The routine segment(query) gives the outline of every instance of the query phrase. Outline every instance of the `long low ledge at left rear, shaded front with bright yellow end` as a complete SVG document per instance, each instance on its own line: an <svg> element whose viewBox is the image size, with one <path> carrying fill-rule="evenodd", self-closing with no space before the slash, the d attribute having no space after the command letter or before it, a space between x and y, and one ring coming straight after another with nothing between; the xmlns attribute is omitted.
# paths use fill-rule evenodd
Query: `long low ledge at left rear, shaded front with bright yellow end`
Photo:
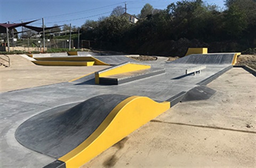
<svg viewBox="0 0 256 168"><path fill-rule="evenodd" d="M32 61L37 65L46 66L92 66L94 61Z"/></svg>

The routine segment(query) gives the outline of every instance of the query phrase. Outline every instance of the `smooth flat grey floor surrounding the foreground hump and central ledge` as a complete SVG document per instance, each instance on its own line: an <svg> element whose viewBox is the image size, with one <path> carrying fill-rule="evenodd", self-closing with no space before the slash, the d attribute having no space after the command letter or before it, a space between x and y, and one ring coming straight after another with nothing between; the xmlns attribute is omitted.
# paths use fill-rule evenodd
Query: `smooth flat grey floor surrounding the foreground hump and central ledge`
<svg viewBox="0 0 256 168"><path fill-rule="evenodd" d="M215 60L213 63L220 62ZM181 91L194 88L196 83L218 73L229 65L230 63L208 64L200 75L188 75L177 79L185 74L186 69L194 68L198 64L152 62L152 68L165 69L166 73L119 86L97 86L92 82L93 79L89 79L82 82L64 82L2 93L1 166L45 166L54 161L54 158L32 152L15 140L15 130L31 116L61 105L82 102L101 94L147 96L157 102L162 102ZM26 163L23 162L24 158L27 160Z"/></svg>

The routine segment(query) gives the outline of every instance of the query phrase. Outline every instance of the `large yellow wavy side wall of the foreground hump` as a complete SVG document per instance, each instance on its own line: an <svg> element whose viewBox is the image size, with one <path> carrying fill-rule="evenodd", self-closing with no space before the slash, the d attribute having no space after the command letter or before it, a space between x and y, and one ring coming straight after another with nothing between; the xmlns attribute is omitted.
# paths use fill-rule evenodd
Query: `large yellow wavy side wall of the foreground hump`
<svg viewBox="0 0 256 168"><path fill-rule="evenodd" d="M119 103L82 144L58 160L65 162L67 168L82 166L169 108L170 102L157 103L148 97L129 97Z"/></svg>

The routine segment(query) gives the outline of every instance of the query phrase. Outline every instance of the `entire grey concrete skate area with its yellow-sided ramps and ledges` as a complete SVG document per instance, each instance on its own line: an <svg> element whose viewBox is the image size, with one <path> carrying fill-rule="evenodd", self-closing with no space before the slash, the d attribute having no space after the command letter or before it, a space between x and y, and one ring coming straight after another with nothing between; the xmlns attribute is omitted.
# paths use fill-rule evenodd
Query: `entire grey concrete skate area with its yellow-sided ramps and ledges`
<svg viewBox="0 0 256 168"><path fill-rule="evenodd" d="M142 125L160 123L155 117L167 115L164 112L169 108L183 102L207 101L218 95L218 89L208 84L222 75L231 75L230 71L242 71L255 81L252 69L233 67L239 53L194 51L173 62L138 62L124 55L75 54L23 56L35 64L46 60L59 65L65 62L63 57L74 62L93 62L93 58L96 61L82 65L101 64L104 68L66 82L1 93L2 166L82 166L106 149L111 150L109 147L124 141ZM62 66L65 65L68 64ZM169 122L168 117L165 120ZM221 130L255 137L255 128Z"/></svg>

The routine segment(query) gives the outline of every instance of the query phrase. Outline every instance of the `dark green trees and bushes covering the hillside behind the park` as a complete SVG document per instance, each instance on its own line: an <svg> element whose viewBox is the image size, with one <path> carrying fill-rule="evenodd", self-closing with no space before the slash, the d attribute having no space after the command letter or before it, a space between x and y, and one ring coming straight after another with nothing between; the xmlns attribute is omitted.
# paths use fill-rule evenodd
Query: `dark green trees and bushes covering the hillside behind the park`
<svg viewBox="0 0 256 168"><path fill-rule="evenodd" d="M188 47L242 52L256 46L255 13L255 0L227 0L225 10L202 0L171 3L165 10L146 4L136 24L115 14L86 21L81 39L93 40L93 48L131 54L183 56Z"/></svg>

